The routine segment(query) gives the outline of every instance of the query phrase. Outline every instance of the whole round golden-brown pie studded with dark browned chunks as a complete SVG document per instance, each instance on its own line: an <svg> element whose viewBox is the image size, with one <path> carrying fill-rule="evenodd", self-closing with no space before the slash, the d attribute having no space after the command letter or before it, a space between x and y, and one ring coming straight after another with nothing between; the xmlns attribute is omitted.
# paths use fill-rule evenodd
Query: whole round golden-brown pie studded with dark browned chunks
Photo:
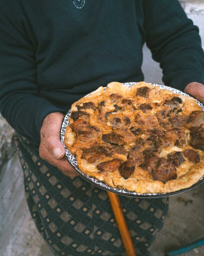
<svg viewBox="0 0 204 256"><path fill-rule="evenodd" d="M81 171L110 186L171 192L204 175L204 112L190 96L113 82L71 111L66 146Z"/></svg>

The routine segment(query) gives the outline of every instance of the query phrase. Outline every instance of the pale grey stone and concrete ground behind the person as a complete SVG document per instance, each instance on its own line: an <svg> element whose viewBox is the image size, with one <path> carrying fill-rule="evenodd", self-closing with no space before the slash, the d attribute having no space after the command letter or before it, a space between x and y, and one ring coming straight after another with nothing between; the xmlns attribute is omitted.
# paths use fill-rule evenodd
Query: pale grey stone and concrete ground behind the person
<svg viewBox="0 0 204 256"><path fill-rule="evenodd" d="M188 0L187 15L199 27L204 46L204 0ZM146 82L162 83L159 64L144 46L142 70ZM12 129L0 117L0 255L53 256L32 221L23 190L17 154L12 152ZM13 156L12 156L13 155ZM185 193L170 197L170 209L162 231L156 237L151 256L165 256L168 250L204 237L204 183ZM203 256L204 246L181 256Z"/></svg>

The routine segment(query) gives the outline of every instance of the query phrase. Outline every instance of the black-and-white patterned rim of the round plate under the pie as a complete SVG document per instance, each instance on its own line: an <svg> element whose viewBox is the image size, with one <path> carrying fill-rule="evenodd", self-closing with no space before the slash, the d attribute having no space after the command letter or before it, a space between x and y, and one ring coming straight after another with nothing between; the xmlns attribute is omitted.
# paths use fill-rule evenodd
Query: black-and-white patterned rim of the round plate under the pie
<svg viewBox="0 0 204 256"><path fill-rule="evenodd" d="M128 86L128 87L132 86L133 84L137 84L137 83L134 83L134 82L132 82L132 83L123 83L123 85ZM178 89L175 89L175 88L172 88L172 87L169 87L169 86L165 86L165 85L161 85L161 84L154 84L154 83L151 83L151 85L159 86L160 89L167 89L167 90L173 91L174 93L184 94L184 95L190 96L187 93L184 93L184 92L182 92ZM104 90L105 90L105 88L106 87L104 87ZM89 94L91 94L91 93L89 93ZM87 95L89 95L89 94L87 94ZM197 101L198 105L202 108L202 110L204 111L204 105L200 101L198 101L198 100L196 100L196 101ZM95 177L89 176L89 175L83 173L82 171L80 171L80 169L78 168L78 165L77 165L76 157L74 155L72 155L72 153L65 146L65 144L64 144L65 136L64 135L65 135L66 127L69 125L70 114L71 114L71 109L67 112L67 114L66 114L66 116L65 116L65 118L62 122L61 131L60 131L60 139L61 139L61 141L62 141L62 143L65 147L65 158L68 161L68 163L73 167L73 169L80 176L82 176L84 179L91 182L95 186L100 187L102 189L105 189L107 191L114 192L114 193L119 194L119 195L123 195L123 196L138 197L138 198L159 198L159 197L167 197L167 196L172 196L172 195L182 193L182 192L187 191L187 190L189 190L193 187L196 187L197 185L201 184L204 181L204 176L203 176L194 185L192 185L188 188L185 188L185 189L181 189L181 190L172 192L172 193L143 193L143 194L139 194L139 193L136 193L136 192L128 191L126 189L119 189L119 188L110 187L105 182L99 181Z"/></svg>

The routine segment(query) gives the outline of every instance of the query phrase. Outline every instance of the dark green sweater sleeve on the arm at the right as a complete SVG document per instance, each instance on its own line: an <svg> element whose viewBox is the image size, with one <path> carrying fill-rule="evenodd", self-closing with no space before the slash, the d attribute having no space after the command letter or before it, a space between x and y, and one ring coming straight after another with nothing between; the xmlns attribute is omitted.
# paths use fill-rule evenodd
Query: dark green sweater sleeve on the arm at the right
<svg viewBox="0 0 204 256"><path fill-rule="evenodd" d="M160 62L165 85L183 90L191 82L204 84L204 52L198 27L178 0L144 0L144 30L152 58Z"/></svg>

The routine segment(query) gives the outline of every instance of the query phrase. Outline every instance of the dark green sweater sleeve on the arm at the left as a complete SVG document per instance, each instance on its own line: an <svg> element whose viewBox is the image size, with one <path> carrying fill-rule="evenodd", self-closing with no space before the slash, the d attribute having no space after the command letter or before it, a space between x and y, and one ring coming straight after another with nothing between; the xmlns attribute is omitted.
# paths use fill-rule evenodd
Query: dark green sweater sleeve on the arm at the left
<svg viewBox="0 0 204 256"><path fill-rule="evenodd" d="M3 10L0 17L1 114L17 132L39 145L44 117L62 110L39 95L32 43Z"/></svg>

